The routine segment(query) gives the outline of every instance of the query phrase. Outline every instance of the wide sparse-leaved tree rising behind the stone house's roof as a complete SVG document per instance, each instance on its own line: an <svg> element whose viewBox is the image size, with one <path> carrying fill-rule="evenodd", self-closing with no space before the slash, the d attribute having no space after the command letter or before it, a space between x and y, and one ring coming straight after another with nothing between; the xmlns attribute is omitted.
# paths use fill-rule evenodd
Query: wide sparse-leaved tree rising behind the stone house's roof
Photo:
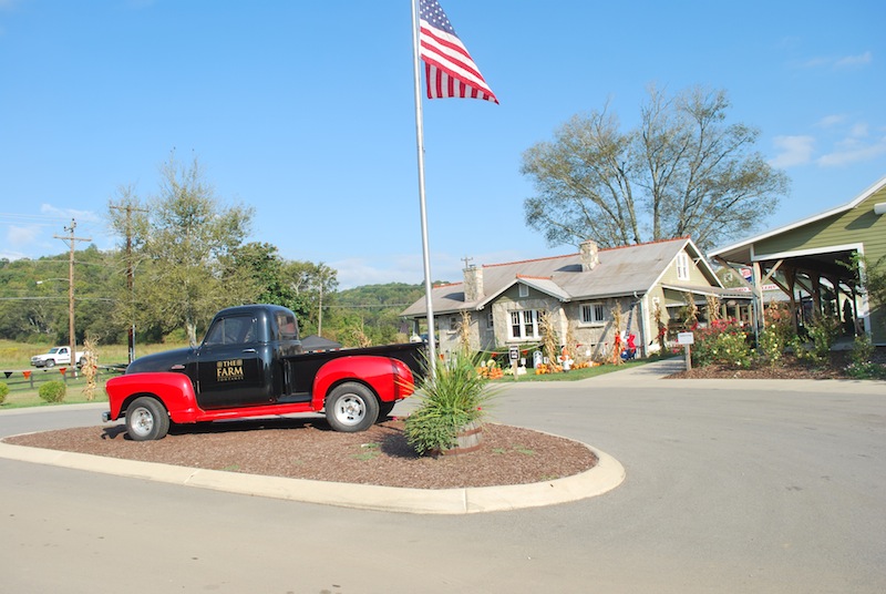
<svg viewBox="0 0 886 594"><path fill-rule="evenodd" d="M746 234L789 182L753 151L758 130L727 123L729 107L724 91L668 98L652 86L637 129L622 132L607 109L573 116L523 155L536 192L527 225L550 246L691 236L709 247Z"/></svg>

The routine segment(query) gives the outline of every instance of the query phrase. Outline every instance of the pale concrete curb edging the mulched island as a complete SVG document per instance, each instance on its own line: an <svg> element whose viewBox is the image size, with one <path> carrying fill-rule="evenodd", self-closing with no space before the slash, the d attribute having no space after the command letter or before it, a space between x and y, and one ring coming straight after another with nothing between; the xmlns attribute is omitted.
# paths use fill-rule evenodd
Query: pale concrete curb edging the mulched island
<svg viewBox="0 0 886 594"><path fill-rule="evenodd" d="M604 494L621 484L626 475L621 463L605 452L588 449L597 455L597 465L574 477L532 484L465 489L400 489L240 474L11 443L0 443L0 458L303 503L385 512L466 514L567 503Z"/></svg>

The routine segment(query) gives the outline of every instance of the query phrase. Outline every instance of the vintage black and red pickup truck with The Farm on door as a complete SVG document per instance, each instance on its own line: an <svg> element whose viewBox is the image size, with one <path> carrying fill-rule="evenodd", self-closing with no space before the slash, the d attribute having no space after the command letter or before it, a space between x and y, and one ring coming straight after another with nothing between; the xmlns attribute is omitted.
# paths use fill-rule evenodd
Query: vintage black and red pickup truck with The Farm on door
<svg viewBox="0 0 886 594"><path fill-rule="evenodd" d="M422 344L305 352L296 315L248 305L216 314L197 348L148 355L107 381L105 421L133 440L169 423L324 411L337 431L364 431L414 391Z"/></svg>

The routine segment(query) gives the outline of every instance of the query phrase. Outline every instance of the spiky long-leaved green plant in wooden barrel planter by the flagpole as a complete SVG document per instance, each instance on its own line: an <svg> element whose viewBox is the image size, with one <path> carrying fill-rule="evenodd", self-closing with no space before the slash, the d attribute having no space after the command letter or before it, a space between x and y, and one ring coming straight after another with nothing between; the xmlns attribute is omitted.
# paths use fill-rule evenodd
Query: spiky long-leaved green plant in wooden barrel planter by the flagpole
<svg viewBox="0 0 886 594"><path fill-rule="evenodd" d="M483 419L483 407L494 396L467 355L437 365L436 378L425 373L420 390L419 408L404 427L406 441L420 455L452 448L459 431Z"/></svg>

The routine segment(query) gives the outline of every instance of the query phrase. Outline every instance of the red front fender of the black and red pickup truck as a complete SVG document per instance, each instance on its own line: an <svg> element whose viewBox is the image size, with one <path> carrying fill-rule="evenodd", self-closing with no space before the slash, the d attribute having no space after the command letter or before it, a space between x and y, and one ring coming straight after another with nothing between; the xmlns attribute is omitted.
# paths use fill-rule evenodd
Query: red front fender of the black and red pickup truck
<svg viewBox="0 0 886 594"><path fill-rule="evenodd" d="M116 420L138 396L154 396L174 422L195 422L198 414L194 386L184 373L157 371L111 378L105 383L110 404L109 420Z"/></svg>

